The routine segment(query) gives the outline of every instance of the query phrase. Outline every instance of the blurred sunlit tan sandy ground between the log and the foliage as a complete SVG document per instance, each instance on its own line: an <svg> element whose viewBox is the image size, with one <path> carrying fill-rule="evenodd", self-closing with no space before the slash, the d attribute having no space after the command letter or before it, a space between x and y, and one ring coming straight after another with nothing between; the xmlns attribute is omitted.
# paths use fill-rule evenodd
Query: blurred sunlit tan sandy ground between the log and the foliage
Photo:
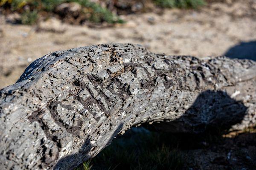
<svg viewBox="0 0 256 170"><path fill-rule="evenodd" d="M198 11L168 9L161 15L122 17L128 21L124 25L98 28L56 19L37 26L12 25L0 15L0 88L14 83L33 60L53 51L129 42L155 53L207 57L223 55L241 42L254 45L256 40L255 0L212 3Z"/></svg>

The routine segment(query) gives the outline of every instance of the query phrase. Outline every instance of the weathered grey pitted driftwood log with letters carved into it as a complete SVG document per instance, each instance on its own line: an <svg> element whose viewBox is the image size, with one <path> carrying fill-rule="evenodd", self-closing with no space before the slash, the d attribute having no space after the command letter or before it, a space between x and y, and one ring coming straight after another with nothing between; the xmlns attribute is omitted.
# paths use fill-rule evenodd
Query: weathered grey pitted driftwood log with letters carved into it
<svg viewBox="0 0 256 170"><path fill-rule="evenodd" d="M73 169L149 122L199 133L256 124L256 62L104 44L35 60L0 91L0 169Z"/></svg>

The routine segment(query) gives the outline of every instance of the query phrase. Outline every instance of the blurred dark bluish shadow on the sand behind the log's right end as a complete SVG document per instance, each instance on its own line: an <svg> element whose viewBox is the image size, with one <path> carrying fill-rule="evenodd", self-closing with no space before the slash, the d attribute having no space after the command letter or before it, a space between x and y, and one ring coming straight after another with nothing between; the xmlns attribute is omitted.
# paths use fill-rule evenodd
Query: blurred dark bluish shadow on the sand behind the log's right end
<svg viewBox="0 0 256 170"><path fill-rule="evenodd" d="M224 56L238 59L252 59L256 61L256 41L241 42L228 49Z"/></svg>

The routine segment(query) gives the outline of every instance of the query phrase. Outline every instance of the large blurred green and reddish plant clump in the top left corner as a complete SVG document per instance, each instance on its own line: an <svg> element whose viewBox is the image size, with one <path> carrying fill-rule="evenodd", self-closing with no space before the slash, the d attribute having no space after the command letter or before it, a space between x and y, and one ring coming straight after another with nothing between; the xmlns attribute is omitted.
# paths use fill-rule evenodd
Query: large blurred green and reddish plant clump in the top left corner
<svg viewBox="0 0 256 170"><path fill-rule="evenodd" d="M12 11L18 11L22 14L21 23L33 24L38 19L38 13L46 11L47 13L44 14L56 14L55 8L58 5L71 2L79 3L84 9L81 11L81 15L89 16L85 19L91 22L124 23L123 20L107 8L89 0L1 0L0 7L9 6ZM28 6L29 9L24 10L24 6Z"/></svg>

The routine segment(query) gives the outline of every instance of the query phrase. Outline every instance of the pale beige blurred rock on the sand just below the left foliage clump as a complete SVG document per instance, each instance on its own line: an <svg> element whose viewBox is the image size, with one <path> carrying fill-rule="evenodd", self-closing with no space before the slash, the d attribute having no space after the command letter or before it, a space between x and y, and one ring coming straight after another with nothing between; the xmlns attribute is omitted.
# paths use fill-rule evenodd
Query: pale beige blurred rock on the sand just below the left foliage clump
<svg viewBox="0 0 256 170"><path fill-rule="evenodd" d="M39 23L37 31L50 31L55 33L64 33L66 31L66 27L60 20L55 17L52 17L46 21L42 21Z"/></svg>

